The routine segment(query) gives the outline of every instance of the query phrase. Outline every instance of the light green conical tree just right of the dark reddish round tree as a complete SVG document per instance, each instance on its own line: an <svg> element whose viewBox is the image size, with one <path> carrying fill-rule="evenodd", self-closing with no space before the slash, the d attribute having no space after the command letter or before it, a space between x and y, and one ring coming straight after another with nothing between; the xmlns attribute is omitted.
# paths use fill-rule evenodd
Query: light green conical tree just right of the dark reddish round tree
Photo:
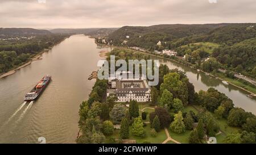
<svg viewBox="0 0 256 155"><path fill-rule="evenodd" d="M178 114L174 115L174 122L171 123L170 126L171 130L175 133L183 133L185 132L185 125L183 122L183 116L182 116L182 112L179 111Z"/></svg>

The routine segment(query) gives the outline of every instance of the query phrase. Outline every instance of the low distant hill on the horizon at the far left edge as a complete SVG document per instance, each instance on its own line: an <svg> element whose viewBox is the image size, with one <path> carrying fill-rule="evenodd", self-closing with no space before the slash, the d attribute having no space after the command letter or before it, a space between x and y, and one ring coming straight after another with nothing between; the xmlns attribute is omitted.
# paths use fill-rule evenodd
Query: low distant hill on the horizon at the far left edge
<svg viewBox="0 0 256 155"><path fill-rule="evenodd" d="M0 35L44 35L51 34L48 30L36 30L34 28L0 28Z"/></svg>

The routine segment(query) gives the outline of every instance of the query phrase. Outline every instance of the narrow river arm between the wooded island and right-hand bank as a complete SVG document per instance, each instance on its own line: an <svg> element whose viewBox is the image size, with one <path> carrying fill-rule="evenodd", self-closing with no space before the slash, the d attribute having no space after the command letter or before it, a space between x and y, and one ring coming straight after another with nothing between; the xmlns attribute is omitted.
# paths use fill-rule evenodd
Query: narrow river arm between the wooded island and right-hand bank
<svg viewBox="0 0 256 155"><path fill-rule="evenodd" d="M208 90L209 87L214 87L221 93L226 94L236 107L242 107L245 111L256 114L256 99L246 96L247 91L241 90L233 85L224 85L220 79L210 77L202 72L197 72L188 66L179 64L177 62L166 60L163 58L152 56L152 59L158 59L161 64L166 64L170 69L179 69L187 74L189 81L195 86L195 90Z"/></svg>

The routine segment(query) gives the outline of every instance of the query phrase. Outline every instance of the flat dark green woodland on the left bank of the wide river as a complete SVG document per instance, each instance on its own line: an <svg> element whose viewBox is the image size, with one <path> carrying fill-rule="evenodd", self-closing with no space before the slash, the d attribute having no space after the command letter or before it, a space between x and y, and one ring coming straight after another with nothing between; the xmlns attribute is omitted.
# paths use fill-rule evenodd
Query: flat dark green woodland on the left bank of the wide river
<svg viewBox="0 0 256 155"><path fill-rule="evenodd" d="M30 60L36 53L52 47L59 43L68 35L53 34L49 32L47 35L37 34L31 36L19 36L18 39L0 40L0 74ZM14 36L6 36L13 38ZM27 39L31 37L31 39Z"/></svg>

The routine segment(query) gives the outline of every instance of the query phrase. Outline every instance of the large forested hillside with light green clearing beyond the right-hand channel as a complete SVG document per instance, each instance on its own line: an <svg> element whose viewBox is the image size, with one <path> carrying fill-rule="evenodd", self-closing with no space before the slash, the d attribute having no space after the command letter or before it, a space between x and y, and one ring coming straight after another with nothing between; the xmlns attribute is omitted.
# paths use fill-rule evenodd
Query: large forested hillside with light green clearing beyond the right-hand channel
<svg viewBox="0 0 256 155"><path fill-rule="evenodd" d="M126 38L129 36L129 38ZM256 78L256 24L192 24L122 27L109 35L113 45L141 47L148 51L172 49L201 68L214 57L219 67ZM122 44L126 40L126 44ZM161 45L156 45L161 41ZM205 70L211 72L212 70Z"/></svg>

